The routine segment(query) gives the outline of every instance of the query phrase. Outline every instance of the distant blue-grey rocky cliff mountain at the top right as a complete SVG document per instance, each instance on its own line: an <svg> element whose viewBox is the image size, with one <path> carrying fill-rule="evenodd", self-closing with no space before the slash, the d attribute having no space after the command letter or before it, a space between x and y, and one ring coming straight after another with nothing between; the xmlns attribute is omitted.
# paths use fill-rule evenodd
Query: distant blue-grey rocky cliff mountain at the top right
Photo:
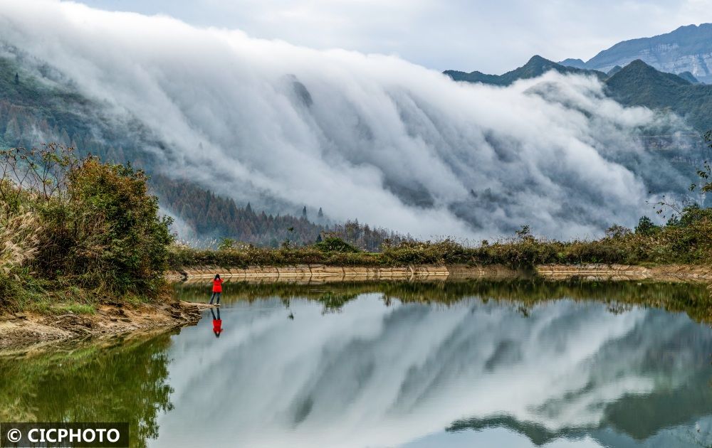
<svg viewBox="0 0 712 448"><path fill-rule="evenodd" d="M690 72L698 80L712 83L712 23L617 43L587 61L586 68L608 72L636 59L663 72Z"/></svg>

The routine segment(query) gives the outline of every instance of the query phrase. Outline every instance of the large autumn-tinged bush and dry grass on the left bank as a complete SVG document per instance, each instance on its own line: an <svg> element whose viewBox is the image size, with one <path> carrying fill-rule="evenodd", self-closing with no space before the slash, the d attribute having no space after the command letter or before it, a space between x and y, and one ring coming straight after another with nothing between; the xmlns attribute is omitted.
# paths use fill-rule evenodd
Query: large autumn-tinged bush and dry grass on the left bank
<svg viewBox="0 0 712 448"><path fill-rule="evenodd" d="M130 166L70 149L0 151L0 307L90 312L158 299L169 218Z"/></svg>

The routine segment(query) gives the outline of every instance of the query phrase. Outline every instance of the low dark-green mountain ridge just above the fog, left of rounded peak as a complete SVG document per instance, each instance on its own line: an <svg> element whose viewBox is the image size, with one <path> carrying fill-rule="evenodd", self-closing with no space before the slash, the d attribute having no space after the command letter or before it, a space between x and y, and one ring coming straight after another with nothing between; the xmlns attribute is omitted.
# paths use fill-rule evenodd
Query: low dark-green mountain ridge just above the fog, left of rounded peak
<svg viewBox="0 0 712 448"><path fill-rule="evenodd" d="M606 78L605 73L597 72L595 70L582 70L580 68L567 67L566 65L557 64L551 60L542 58L540 55L533 56L525 65L503 75L486 75L485 73L478 71L465 73L457 70L446 70L443 73L456 81L482 82L483 84L493 85L511 85L517 80L536 78L549 70L556 70L559 73L595 75L600 79Z"/></svg>

